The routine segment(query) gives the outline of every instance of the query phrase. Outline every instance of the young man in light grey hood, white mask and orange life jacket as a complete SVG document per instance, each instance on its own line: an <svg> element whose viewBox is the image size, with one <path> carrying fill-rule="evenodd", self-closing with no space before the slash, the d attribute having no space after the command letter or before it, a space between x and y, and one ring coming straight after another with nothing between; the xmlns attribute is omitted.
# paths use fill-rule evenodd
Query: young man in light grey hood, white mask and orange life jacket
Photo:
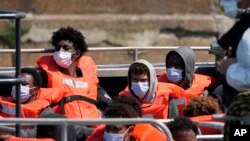
<svg viewBox="0 0 250 141"><path fill-rule="evenodd" d="M168 118L169 99L184 95L181 87L158 83L153 65L146 60L133 62L128 70L128 87L119 95L132 95L141 102L143 117Z"/></svg>

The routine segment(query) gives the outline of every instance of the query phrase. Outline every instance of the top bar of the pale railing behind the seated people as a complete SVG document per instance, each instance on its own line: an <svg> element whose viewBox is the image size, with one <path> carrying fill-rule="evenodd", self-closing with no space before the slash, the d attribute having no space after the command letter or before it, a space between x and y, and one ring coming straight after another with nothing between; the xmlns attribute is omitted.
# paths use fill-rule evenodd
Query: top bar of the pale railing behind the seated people
<svg viewBox="0 0 250 141"><path fill-rule="evenodd" d="M126 50L171 50L176 49L179 46L144 46L144 47L89 47L89 51L126 51ZM191 46L193 50L208 51L209 46ZM52 48L27 48L21 49L22 53L52 53ZM14 53L15 49L0 49L0 53Z"/></svg>

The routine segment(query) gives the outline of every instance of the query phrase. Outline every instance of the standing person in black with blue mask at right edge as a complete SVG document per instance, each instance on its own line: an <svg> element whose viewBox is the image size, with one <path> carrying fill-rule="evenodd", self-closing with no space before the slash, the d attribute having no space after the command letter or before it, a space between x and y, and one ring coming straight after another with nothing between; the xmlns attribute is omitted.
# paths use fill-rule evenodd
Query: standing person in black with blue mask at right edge
<svg viewBox="0 0 250 141"><path fill-rule="evenodd" d="M216 43L212 44L210 50L211 53L222 57L222 59L217 62L216 67L222 82L223 105L227 108L233 98L238 94L238 90L228 84L225 77L226 70L229 65L237 61L236 54L238 52L239 42L250 27L250 1L221 0L220 4L225 11L225 15L236 20L235 24L223 34Z"/></svg>

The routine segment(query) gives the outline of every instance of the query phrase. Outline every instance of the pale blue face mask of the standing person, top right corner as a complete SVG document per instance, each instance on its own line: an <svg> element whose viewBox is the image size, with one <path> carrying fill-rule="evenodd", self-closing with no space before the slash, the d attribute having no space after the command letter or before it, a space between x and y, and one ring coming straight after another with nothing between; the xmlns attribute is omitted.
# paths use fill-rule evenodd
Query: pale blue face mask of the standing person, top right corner
<svg viewBox="0 0 250 141"><path fill-rule="evenodd" d="M220 0L224 13L230 18L235 18L238 14L238 0Z"/></svg>

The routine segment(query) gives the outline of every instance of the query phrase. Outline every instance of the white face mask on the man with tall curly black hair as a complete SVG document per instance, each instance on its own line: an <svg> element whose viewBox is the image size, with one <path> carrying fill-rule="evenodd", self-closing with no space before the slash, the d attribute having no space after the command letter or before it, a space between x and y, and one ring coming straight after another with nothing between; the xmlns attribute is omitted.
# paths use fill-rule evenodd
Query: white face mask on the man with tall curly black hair
<svg viewBox="0 0 250 141"><path fill-rule="evenodd" d="M54 52L54 60L56 61L56 64L62 68L68 68L73 63L71 56L72 54L66 51Z"/></svg>

